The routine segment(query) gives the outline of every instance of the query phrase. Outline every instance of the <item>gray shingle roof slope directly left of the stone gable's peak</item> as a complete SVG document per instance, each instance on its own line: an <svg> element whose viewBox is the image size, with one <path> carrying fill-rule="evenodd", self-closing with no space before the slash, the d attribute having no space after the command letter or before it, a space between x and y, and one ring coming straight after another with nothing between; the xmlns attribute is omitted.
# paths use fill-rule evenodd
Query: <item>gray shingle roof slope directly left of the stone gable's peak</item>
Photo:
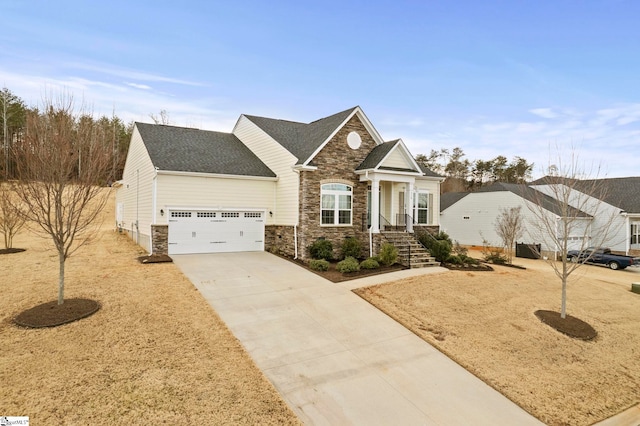
<svg viewBox="0 0 640 426"><path fill-rule="evenodd" d="M309 124L245 115L303 164L357 107Z"/></svg>

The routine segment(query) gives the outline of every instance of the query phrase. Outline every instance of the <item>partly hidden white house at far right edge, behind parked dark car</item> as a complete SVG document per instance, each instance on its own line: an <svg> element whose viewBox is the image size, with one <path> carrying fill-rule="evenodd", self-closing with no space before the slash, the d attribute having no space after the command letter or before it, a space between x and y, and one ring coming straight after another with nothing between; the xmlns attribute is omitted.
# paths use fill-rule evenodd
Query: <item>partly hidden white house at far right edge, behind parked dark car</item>
<svg viewBox="0 0 640 426"><path fill-rule="evenodd" d="M563 184L571 185L578 195L598 194L581 202L581 208L594 216L594 240L615 252L640 255L640 177L570 181L543 177L530 185L552 194L552 185ZM598 232L604 235L596 235Z"/></svg>

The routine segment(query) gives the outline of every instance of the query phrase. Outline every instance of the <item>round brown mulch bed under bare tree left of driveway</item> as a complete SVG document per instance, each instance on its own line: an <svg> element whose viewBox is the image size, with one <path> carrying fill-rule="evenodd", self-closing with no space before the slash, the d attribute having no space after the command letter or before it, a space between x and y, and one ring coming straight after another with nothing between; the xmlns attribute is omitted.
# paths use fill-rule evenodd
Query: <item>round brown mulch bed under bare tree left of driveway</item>
<svg viewBox="0 0 640 426"><path fill-rule="evenodd" d="M28 328L57 327L93 315L98 309L100 303L91 299L66 299L62 305L53 300L21 312L13 321Z"/></svg>

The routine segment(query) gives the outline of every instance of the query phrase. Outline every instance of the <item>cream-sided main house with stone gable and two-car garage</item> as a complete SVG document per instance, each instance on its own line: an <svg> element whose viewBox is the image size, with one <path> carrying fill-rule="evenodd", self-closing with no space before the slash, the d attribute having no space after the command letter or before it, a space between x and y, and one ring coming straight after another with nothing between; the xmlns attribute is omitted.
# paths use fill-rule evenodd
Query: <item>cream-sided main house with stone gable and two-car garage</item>
<svg viewBox="0 0 640 426"><path fill-rule="evenodd" d="M442 180L360 107L308 124L241 115L231 133L136 123L116 222L155 254L306 258L319 238L369 247L394 225L437 230Z"/></svg>

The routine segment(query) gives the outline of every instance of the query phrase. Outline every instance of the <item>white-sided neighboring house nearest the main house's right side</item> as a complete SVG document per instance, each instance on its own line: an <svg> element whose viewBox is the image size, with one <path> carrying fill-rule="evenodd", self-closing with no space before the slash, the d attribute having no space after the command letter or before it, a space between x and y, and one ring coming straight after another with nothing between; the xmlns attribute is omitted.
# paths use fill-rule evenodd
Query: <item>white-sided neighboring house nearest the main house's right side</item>
<svg viewBox="0 0 640 426"><path fill-rule="evenodd" d="M537 209L537 206L542 209ZM540 227L534 226L538 218L532 212L540 211L551 220L558 220L562 210L555 199L526 185L494 183L477 192L445 193L440 202L440 227L453 241L462 245L501 246L502 240L495 230L496 220L503 209L520 207L525 232L519 242L540 244L543 252L555 252L557 248L550 238L540 235ZM568 238L571 248L583 244L589 236L592 217L587 213L571 209L571 217L577 220ZM588 241L584 242L588 244Z"/></svg>

